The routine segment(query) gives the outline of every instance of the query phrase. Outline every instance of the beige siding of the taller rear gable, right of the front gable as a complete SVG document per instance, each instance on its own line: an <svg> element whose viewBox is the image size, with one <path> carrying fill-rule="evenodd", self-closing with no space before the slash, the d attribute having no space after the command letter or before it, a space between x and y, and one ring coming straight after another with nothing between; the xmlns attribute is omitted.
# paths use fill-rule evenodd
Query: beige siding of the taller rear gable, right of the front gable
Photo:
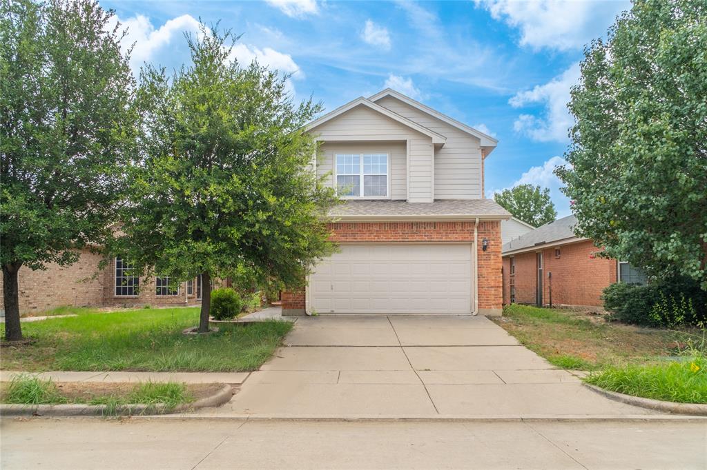
<svg viewBox="0 0 707 470"><path fill-rule="evenodd" d="M376 104L447 138L445 145L436 150L434 157L435 199L483 197L481 140L394 97L382 98Z"/></svg>

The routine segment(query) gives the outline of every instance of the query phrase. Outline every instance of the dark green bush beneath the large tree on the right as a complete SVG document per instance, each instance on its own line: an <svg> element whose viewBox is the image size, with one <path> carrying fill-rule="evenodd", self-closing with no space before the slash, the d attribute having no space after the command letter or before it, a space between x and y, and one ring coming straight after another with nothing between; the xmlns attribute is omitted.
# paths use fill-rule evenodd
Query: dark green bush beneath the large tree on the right
<svg viewBox="0 0 707 470"><path fill-rule="evenodd" d="M707 291L689 278L646 286L617 282L604 289L602 299L612 320L621 323L674 328L707 321Z"/></svg>

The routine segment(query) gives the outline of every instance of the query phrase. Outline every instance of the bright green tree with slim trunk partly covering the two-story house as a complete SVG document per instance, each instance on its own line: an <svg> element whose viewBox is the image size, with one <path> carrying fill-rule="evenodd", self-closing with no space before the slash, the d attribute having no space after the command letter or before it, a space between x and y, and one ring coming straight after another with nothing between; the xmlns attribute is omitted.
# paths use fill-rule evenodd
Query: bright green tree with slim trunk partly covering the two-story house
<svg viewBox="0 0 707 470"><path fill-rule="evenodd" d="M336 198L311 171L316 145L302 129L320 106L296 106L286 78L239 66L232 41L202 25L187 36L191 66L142 74L144 161L117 246L141 274L201 275L199 332L212 279L300 285L333 249L321 217Z"/></svg>

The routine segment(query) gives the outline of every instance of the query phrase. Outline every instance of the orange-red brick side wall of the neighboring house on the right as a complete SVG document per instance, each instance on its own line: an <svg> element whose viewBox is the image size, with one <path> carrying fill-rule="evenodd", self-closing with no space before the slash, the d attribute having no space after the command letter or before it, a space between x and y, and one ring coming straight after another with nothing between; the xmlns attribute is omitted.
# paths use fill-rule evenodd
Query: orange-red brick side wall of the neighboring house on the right
<svg viewBox="0 0 707 470"><path fill-rule="evenodd" d="M556 253L559 250L559 253ZM600 258L592 241L580 241L539 250L543 258L543 305L602 306L602 290L617 282L617 262ZM503 257L503 303L510 303L515 287L515 303L536 303L537 251L513 255L515 274L510 274L510 258ZM548 277L548 273L552 277Z"/></svg>

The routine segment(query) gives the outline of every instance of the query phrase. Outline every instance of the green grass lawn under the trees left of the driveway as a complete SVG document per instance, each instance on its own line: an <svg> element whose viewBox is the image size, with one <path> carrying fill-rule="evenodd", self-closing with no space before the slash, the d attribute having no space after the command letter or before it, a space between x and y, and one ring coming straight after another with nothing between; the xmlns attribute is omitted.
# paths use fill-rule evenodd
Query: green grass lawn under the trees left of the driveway
<svg viewBox="0 0 707 470"><path fill-rule="evenodd" d="M219 325L211 335L182 335L199 308L149 308L23 323L30 345L4 347L4 370L245 371L267 361L292 324Z"/></svg>

